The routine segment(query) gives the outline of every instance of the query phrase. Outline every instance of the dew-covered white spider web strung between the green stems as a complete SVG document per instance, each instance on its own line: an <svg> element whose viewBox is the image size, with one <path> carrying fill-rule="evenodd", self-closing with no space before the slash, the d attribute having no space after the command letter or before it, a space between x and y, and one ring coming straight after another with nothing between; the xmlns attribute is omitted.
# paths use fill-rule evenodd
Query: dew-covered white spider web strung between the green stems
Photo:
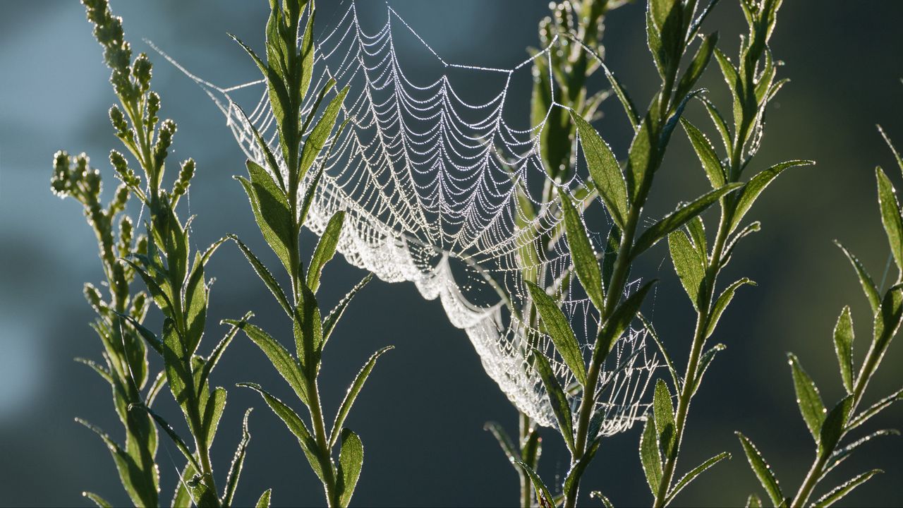
<svg viewBox="0 0 903 508"><path fill-rule="evenodd" d="M387 282L414 282L424 298L439 298L507 398L540 425L555 427L530 354L545 354L563 387L570 387L573 404L580 395L540 328L524 281L549 287L562 302L588 359L599 316L573 276L558 198L539 198L546 185L574 190L586 184L579 170L568 182L547 182L539 153L545 121L512 125L507 110L529 105L509 104L507 95L512 80L531 80L533 59L548 59L563 42L554 40L510 69L458 65L444 61L386 7L385 24L368 33L356 5L349 4L317 43L311 90L330 79L337 82L330 95L348 86L343 112L349 124L318 161L324 171L307 226L319 235L334 212L347 212L338 249L349 263ZM411 51L434 59L432 80L421 79L428 74L422 68L416 79L405 72L400 53ZM479 98L456 86L468 80L484 90ZM198 81L249 158L266 166L248 122L281 153L263 80L225 89ZM252 100L237 99L249 90ZM304 114L315 95L309 94ZM595 235L597 246L602 238ZM631 329L619 339L600 383L604 433L629 428L644 416L643 394L656 366L645 332Z"/></svg>

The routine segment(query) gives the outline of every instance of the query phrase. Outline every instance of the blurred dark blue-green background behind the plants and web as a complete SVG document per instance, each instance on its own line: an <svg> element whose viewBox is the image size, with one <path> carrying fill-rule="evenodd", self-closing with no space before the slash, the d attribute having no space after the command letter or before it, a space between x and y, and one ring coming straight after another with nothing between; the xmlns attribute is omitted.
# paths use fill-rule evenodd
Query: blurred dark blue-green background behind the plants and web
<svg viewBox="0 0 903 508"><path fill-rule="evenodd" d="M338 19L347 2L321 2L318 32ZM328 5L329 4L329 5ZM466 0L417 2L390 0L414 30L449 61L510 67L537 44L536 26L548 10L542 1ZM797 353L833 403L842 385L833 355L831 331L841 308L852 305L857 350L870 340L865 299L847 261L832 244L839 239L881 278L888 247L880 227L874 166L883 165L895 182L900 175L881 140L880 123L903 148L903 37L898 20L903 3L870 0L838 3L786 2L772 47L787 62L780 72L792 81L769 112L759 169L795 158L818 165L782 175L759 200L753 215L763 230L740 247L723 281L749 276L759 287L740 290L712 340L725 343L694 402L678 472L722 450L733 459L712 469L677 500L683 505L738 505L760 488L745 464L733 431L742 430L766 456L780 479L798 485L813 456L808 432L794 401L785 353ZM385 21L385 4L358 3L365 28ZM263 1L114 2L125 18L126 37L147 51L143 38L157 43L191 71L228 86L256 79L256 69L226 33L256 48L263 43L267 14ZM610 14L604 42L607 61L633 98L643 105L657 76L646 48L643 5ZM745 31L735 1L721 5L705 32L718 30L733 54ZM192 156L199 174L192 185L193 241L204 247L228 232L247 239L257 252L263 241L247 199L232 174L244 173L244 155L219 111L191 80L152 55L154 89L163 97L162 117L179 124L173 157ZM417 62L407 70L418 77ZM100 344L88 322L93 313L81 297L85 281L101 278L97 246L80 206L50 191L51 155L58 149L85 151L104 172L112 171L110 148L117 147L107 120L115 97L109 72L76 2L15 2L0 16L0 503L8 505L88 505L89 490L116 504L128 499L113 462L98 437L73 421L82 417L119 438L105 382L76 356L99 359ZM423 76L433 80L435 76ZM528 83L516 84L528 108ZM712 98L726 99L719 74L710 68L704 86ZM479 83L464 84L471 88ZM616 151L628 146L628 128L619 105L603 107L597 127ZM722 107L723 110L723 107ZM698 118L699 111L690 113ZM707 124L706 124L707 125ZM707 188L703 171L683 135L675 136L666 163L656 176L650 216ZM134 211L135 215L137 210ZM267 259L269 260L269 259ZM207 347L224 330L219 318L255 311L259 323L277 334L284 320L265 287L236 249L220 249L209 272L214 286ZM343 261L330 265L321 291L328 305L360 277ZM664 246L635 270L660 278L656 328L683 369L694 317ZM736 277L734 277L736 276ZM893 274L890 275L892 277ZM362 437L367 459L355 495L356 505L486 505L517 503L517 475L483 424L502 422L516 432L516 413L489 380L466 336L449 325L438 302L424 301L411 284L375 282L350 307L326 351L323 397L337 405L348 382L369 353L386 344L387 354L368 381L348 426ZM899 339L898 339L899 341ZM201 346L204 347L203 344ZM903 384L903 344L894 344L871 400ZM231 346L214 382L227 388L256 381L277 394L284 382L249 341ZM295 439L249 390L230 389L213 460L219 474L240 437L245 408L252 442L238 502L253 503L268 486L274 505L321 504L321 487ZM164 415L177 414L168 396L158 399ZM901 427L903 406L886 411L870 428ZM616 505L649 503L639 466L639 428L603 442L584 476L584 496L601 490ZM541 474L563 476L568 456L551 430L545 431ZM870 467L886 473L847 498L851 505L899 505L903 491L903 440L870 444L854 456L837 484ZM170 499L175 470L182 465L161 437L162 499ZM826 484L827 485L827 484ZM586 504L592 504L588 499Z"/></svg>

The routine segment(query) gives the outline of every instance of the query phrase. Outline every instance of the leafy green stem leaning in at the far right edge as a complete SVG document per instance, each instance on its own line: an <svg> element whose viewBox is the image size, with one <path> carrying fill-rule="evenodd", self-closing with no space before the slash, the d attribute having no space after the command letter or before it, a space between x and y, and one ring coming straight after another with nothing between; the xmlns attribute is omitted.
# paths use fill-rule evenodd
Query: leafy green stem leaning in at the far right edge
<svg viewBox="0 0 903 508"><path fill-rule="evenodd" d="M880 130L880 127L879 127ZM899 169L903 172L903 159L897 150L890 144L890 140L880 130L890 150L897 159ZM824 493L815 503L810 503L810 498L815 494L815 489L824 481L825 476L839 466L852 453L862 445L875 437L899 435L894 428L885 428L871 431L865 436L853 437L851 433L861 428L869 419L888 409L897 400L903 399L903 390L897 390L887 397L873 403L869 408L860 410L861 403L865 399L865 390L869 382L878 372L881 359L888 351L890 341L897 335L901 321L903 321L903 217L900 215L900 207L897 202L896 192L890 183L888 175L880 167L875 169L878 180L878 205L881 215L881 223L887 234L890 245L891 257L898 268L898 276L882 296L879 287L875 286L873 279L850 250L843 247L840 242L837 246L850 260L853 270L859 278L862 291L869 301L872 323L872 337L869 350L862 359L859 373L856 373L853 358L853 324L852 313L849 306L844 306L837 324L834 326L833 344L834 353L837 354L838 370L845 395L841 400L828 410L822 400L821 392L815 385L815 381L803 369L802 363L793 353L787 353L790 363L790 371L796 390L796 405L803 417L806 428L812 434L815 441L815 458L796 494L784 494L777 476L765 458L759 453L759 449L752 444L749 437L737 433L740 445L749 460L749 466L759 478L759 483L768 494L768 500L775 506L831 506L841 501L853 489L869 481L869 479L881 472L880 469L871 469L853 476L851 479L839 484ZM761 506L759 495L751 494L748 506Z"/></svg>

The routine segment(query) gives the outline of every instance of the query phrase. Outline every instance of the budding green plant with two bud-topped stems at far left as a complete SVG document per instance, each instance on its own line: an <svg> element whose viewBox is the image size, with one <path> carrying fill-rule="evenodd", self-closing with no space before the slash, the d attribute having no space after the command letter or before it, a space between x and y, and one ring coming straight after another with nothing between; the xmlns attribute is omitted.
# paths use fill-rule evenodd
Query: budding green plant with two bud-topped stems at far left
<svg viewBox="0 0 903 508"><path fill-rule="evenodd" d="M178 483L172 504L185 506L228 506L236 492L249 435L247 413L243 438L229 469L227 484L218 494L209 451L226 406L223 388L210 390L209 375L228 343L237 333L235 326L208 357L197 354L207 320L208 285L204 267L220 240L191 262L189 232L176 213L180 198L188 192L195 174L191 159L182 163L172 183L163 189L165 159L172 145L176 125L160 122L160 97L150 89L152 65L144 53L132 61L132 50L124 38L122 20L110 13L107 0L83 0L94 35L104 48L104 59L112 71L110 82L120 106L110 108L116 137L134 157L142 177L129 166L126 156L113 150L110 163L122 185L106 209L100 206L100 175L88 167L88 157L58 153L54 159L52 186L55 192L70 194L86 207L100 244L101 260L107 274L111 301L104 302L98 290L86 287L86 294L98 312L95 329L105 344L107 369L88 362L114 390L116 410L126 426L126 449L106 434L95 430L109 447L126 492L136 505L159 503L159 472L154 463L157 436L151 419L172 438L188 464ZM132 61L130 63L130 61ZM146 229L150 240L132 245L133 227L125 217L120 222L119 241L114 246L112 223L123 212L129 194L135 195L149 212ZM139 275L156 306L163 312L163 331L154 334L144 326L147 311L144 293L130 296L129 282ZM148 380L144 342L163 358L164 369L142 394ZM151 409L157 392L169 384L188 424L194 451L163 417ZM248 410L249 412L249 410ZM148 418L149 417L149 418ZM108 503L96 494L86 494L95 503ZM268 499L268 494L265 494Z"/></svg>

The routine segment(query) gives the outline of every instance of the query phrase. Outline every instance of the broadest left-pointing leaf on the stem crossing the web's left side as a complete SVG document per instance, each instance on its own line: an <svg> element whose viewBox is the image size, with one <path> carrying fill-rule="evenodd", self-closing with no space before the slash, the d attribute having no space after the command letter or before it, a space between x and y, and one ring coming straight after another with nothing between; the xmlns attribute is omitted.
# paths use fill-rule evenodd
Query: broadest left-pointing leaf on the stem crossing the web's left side
<svg viewBox="0 0 903 508"><path fill-rule="evenodd" d="M237 177L251 202L257 226L267 245L273 249L287 271L292 271L289 252L292 249L292 212L285 194L273 177L254 161L248 159L247 173L251 179Z"/></svg>

